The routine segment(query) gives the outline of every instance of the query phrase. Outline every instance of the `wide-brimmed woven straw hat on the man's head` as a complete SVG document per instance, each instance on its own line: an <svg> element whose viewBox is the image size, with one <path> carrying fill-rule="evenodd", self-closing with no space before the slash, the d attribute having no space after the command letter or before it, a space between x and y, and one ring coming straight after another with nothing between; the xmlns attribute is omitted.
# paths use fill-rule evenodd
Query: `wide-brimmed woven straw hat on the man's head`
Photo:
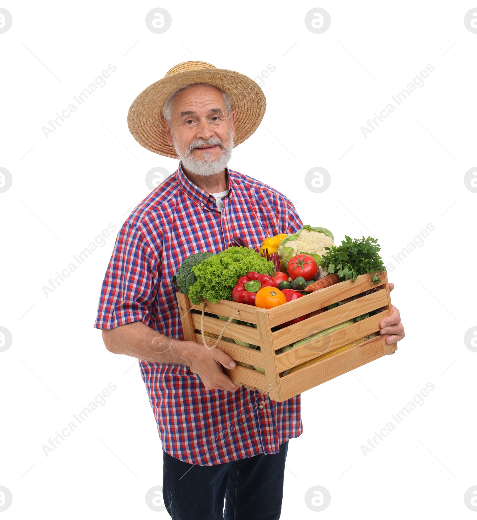
<svg viewBox="0 0 477 520"><path fill-rule="evenodd" d="M171 93L183 85L208 83L219 87L232 100L235 110L234 147L250 137L260 124L267 101L262 89L249 77L232 70L217 69L204 61L186 61L169 70L132 102L127 124L132 136L151 152L178 159L167 142L162 107Z"/></svg>

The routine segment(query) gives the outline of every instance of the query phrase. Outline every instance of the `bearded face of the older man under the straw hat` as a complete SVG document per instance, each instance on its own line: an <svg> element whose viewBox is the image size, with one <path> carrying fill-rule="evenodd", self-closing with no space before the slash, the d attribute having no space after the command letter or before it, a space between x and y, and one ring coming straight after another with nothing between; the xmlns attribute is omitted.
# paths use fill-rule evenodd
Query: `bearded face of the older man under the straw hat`
<svg viewBox="0 0 477 520"><path fill-rule="evenodd" d="M180 92L165 120L167 141L192 173L214 175L227 165L233 148L234 112L219 89L192 86Z"/></svg>

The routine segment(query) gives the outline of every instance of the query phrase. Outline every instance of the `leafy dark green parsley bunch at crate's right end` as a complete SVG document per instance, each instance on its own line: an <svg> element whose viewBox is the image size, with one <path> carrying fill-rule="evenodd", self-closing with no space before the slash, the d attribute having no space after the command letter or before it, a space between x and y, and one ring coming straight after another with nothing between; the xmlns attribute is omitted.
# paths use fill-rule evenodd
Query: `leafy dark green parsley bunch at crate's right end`
<svg viewBox="0 0 477 520"><path fill-rule="evenodd" d="M374 272L372 278L374 283L379 283L376 271L386 271L382 258L379 256L378 240L376 238L350 238L345 235L341 245L333 245L332 248L326 247L329 251L322 257L322 267L328 272L336 272L340 278L353 282L360 275Z"/></svg>

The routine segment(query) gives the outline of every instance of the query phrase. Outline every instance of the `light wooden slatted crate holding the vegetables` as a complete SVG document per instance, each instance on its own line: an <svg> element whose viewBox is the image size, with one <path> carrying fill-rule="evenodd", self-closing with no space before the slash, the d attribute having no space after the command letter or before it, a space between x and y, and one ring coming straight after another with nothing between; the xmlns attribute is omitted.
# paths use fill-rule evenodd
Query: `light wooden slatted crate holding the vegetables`
<svg viewBox="0 0 477 520"><path fill-rule="evenodd" d="M265 372L262 373L239 365L234 369L224 368L224 372L236 384L244 384L247 388L256 388L275 401L284 401L370 361L392 354L398 348L397 345L395 343L387 344L385 341L387 335L378 335L296 372L283 374L290 368L300 365L300 363L379 331L380 321L391 313L391 298L386 272L380 272L378 276L381 282L376 285L371 280L372 275L362 275L357 277L355 282L353 280L339 282L272 309L263 309L228 300L221 300L215 304L205 301L207 304L206 313L230 318L237 310L240 310L236 319L248 321L257 326L257 328L253 328L230 323L224 336L258 345L261 350L224 340L220 340L217 347L221 348L235 361L242 361L248 365L263 368ZM372 290L374 291L369 292ZM272 332L272 328L277 325L358 295L359 297L356 300ZM204 302L201 302L201 305L192 305L189 297L179 292L177 293L177 302L184 339L203 344L201 313ZM286 345L372 310L379 310L379 313L327 334L320 339L315 339L313 342L295 347L284 353L275 353L277 349ZM225 323L219 318L205 315L204 331L220 334ZM213 337L206 337L209 346L213 345L215 341Z"/></svg>

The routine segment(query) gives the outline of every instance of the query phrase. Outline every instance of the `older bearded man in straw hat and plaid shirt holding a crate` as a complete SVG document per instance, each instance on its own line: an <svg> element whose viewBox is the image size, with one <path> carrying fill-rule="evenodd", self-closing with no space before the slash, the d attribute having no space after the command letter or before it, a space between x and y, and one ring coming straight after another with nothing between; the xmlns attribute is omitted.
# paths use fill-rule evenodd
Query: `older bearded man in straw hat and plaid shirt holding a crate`
<svg viewBox="0 0 477 520"><path fill-rule="evenodd" d="M247 76L192 61L171 69L129 109L136 140L180 163L118 233L95 327L110 352L139 359L174 520L280 518L288 439L303 429L299 395L276 402L239 387L221 368L235 367L230 356L182 341L171 284L191 254L218 253L237 236L255 248L302 227L280 192L227 166L265 108ZM389 343L404 337L400 321L394 308L381 322Z"/></svg>

